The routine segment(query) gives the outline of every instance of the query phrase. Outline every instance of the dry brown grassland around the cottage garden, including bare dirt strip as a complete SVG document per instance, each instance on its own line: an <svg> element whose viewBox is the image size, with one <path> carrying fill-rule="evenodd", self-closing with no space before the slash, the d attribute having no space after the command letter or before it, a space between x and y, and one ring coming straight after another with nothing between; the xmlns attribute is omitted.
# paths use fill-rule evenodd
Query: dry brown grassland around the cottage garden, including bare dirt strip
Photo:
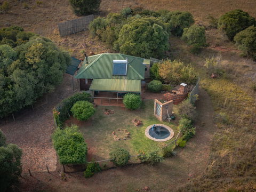
<svg viewBox="0 0 256 192"><path fill-rule="evenodd" d="M81 51L95 54L111 52L100 41L91 38L88 31L65 38L59 36L58 23L77 18L68 0L42 0L41 5L29 0L9 2L11 10L0 14L0 27L19 25L51 38L61 49L78 59L83 57ZM25 9L25 3L28 9ZM119 12L130 6L188 11L194 15L196 22L206 27L209 26L208 15L218 18L234 9L242 9L256 17L255 0L102 0L99 14L103 16L109 12ZM226 192L229 188L256 191L256 93L251 89L252 83L256 82L256 63L239 57L240 52L234 43L227 41L217 29L207 28L206 38L210 45L199 55L189 53L189 47L180 39L170 38L171 50L167 55L171 59L191 63L198 69L201 77L205 78L201 87L209 93L212 101L203 92L199 100L201 123L197 123L199 129L196 137L187 148L179 151L178 157L167 159L157 167L136 165L127 170L108 170L89 180L79 173L69 174L67 182L59 179L60 167L57 166L57 171L51 175L38 172L34 178L30 178L25 174L25 179L21 180L21 191L79 191L84 188L87 191L143 191L141 188L145 185L150 186L150 191L174 191L188 181L180 191ZM219 58L226 78L210 79L206 75L204 61L212 56ZM215 125L211 122L212 118ZM218 129L214 129L215 126Z"/></svg>

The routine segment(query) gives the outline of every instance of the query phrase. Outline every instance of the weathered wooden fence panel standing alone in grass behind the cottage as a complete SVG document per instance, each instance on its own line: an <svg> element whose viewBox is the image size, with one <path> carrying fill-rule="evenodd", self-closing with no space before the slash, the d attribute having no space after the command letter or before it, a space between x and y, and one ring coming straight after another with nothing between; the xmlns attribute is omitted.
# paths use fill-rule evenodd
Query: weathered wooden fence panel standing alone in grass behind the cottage
<svg viewBox="0 0 256 192"><path fill-rule="evenodd" d="M87 15L85 17L74 19L58 24L60 36L66 36L70 34L78 33L87 29L89 23L93 21L93 15Z"/></svg>

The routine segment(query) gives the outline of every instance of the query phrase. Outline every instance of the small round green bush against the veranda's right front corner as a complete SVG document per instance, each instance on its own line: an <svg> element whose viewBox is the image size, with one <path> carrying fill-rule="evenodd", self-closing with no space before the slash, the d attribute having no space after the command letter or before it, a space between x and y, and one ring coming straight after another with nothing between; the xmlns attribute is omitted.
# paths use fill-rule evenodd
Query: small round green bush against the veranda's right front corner
<svg viewBox="0 0 256 192"><path fill-rule="evenodd" d="M123 103L127 109L135 110L140 108L142 101L139 94L126 93Z"/></svg>

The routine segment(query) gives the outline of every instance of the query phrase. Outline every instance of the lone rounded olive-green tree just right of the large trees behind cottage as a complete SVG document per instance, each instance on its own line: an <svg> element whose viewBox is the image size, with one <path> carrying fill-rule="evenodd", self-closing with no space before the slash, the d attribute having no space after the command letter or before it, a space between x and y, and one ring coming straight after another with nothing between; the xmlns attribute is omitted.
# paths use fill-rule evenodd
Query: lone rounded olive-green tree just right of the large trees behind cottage
<svg viewBox="0 0 256 192"><path fill-rule="evenodd" d="M198 25L185 28L181 39L193 46L193 53L199 53L206 46L205 28Z"/></svg>

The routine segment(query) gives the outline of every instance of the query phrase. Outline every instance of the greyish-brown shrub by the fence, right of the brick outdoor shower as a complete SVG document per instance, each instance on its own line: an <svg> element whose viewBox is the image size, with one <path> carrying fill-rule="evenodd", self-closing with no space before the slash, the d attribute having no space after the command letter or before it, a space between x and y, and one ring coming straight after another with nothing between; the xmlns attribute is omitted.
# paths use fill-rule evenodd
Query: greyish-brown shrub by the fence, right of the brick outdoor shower
<svg viewBox="0 0 256 192"><path fill-rule="evenodd" d="M188 118L191 121L195 121L196 119L196 107L193 106L189 100L182 101L177 106L177 114L181 118Z"/></svg>

